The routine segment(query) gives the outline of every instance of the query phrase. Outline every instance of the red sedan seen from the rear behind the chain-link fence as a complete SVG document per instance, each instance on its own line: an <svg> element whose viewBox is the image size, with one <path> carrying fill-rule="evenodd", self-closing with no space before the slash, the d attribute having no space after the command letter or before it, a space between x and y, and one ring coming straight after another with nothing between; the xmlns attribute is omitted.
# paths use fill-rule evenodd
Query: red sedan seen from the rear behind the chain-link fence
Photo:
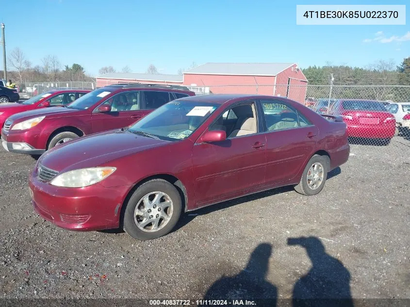
<svg viewBox="0 0 410 307"><path fill-rule="evenodd" d="M394 137L394 115L378 101L339 99L333 104L329 114L343 117L349 137L378 139L385 145Z"/></svg>

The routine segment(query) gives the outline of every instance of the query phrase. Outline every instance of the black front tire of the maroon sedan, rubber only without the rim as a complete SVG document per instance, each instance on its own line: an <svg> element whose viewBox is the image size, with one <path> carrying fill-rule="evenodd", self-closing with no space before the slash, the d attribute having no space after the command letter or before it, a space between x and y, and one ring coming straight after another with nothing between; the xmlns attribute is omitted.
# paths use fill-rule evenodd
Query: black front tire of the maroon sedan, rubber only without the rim
<svg viewBox="0 0 410 307"><path fill-rule="evenodd" d="M173 204L173 212L169 221L162 228L157 231L146 232L137 226L134 219L134 211L139 201L145 195L156 191L165 193L169 196ZM141 241L156 239L168 234L180 219L182 210L180 193L173 184L164 179L152 179L143 183L134 191L127 204L124 205L126 205L123 217L124 230L132 238Z"/></svg>

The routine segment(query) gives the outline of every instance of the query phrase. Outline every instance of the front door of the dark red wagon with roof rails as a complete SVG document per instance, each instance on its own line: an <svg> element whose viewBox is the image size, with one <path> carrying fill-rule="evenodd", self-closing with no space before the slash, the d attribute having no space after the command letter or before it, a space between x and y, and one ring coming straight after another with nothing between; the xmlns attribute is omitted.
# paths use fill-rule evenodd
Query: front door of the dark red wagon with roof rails
<svg viewBox="0 0 410 307"><path fill-rule="evenodd" d="M110 112L98 112L101 105L111 106ZM91 115L92 133L131 125L143 116L141 92L123 91L108 98Z"/></svg>

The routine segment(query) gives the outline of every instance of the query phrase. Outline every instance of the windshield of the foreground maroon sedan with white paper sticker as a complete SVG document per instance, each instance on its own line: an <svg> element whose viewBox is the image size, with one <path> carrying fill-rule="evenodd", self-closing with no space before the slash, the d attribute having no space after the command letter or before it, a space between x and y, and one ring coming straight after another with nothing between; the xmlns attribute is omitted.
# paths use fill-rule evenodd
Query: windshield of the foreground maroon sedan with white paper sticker
<svg viewBox="0 0 410 307"><path fill-rule="evenodd" d="M189 137L220 104L174 100L132 125L128 131L176 141Z"/></svg>

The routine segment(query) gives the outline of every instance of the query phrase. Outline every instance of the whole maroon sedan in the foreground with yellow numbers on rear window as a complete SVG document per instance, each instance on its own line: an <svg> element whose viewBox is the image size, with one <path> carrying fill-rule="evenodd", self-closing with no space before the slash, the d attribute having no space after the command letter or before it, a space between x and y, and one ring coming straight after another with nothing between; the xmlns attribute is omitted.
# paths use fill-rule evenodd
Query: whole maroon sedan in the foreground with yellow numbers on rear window
<svg viewBox="0 0 410 307"><path fill-rule="evenodd" d="M279 186L319 193L349 157L346 124L270 96L180 98L127 129L57 146L30 175L34 209L72 230L123 227L139 240L182 212Z"/></svg>

